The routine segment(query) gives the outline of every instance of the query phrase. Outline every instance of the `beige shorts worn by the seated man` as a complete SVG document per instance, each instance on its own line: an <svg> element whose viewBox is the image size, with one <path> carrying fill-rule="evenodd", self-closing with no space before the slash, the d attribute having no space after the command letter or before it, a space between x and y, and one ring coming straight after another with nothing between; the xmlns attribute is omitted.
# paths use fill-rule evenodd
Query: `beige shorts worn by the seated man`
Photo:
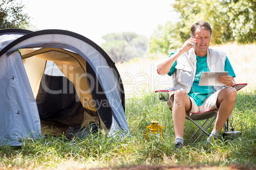
<svg viewBox="0 0 256 170"><path fill-rule="evenodd" d="M206 98L206 100L204 101L203 105L201 106L197 106L195 100L191 97L190 101L191 101L191 110L189 113L187 113L187 115L191 115L192 113L201 113L201 112L206 112L209 110L217 110L217 98L218 98L218 94L220 93L221 90L215 91L215 93L213 93L213 95L209 96L208 98ZM174 98L174 94L171 94L170 98L171 100L168 100L168 107L172 110L173 108L173 98Z"/></svg>

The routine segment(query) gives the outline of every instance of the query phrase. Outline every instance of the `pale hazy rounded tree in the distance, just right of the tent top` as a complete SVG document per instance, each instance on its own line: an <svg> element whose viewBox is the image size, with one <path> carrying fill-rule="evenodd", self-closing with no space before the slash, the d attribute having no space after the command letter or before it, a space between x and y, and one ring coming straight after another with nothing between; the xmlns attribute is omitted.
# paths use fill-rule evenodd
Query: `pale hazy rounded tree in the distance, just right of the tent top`
<svg viewBox="0 0 256 170"><path fill-rule="evenodd" d="M114 62L125 62L134 57L144 56L148 49L148 39L134 32L111 33L103 36L101 48Z"/></svg>

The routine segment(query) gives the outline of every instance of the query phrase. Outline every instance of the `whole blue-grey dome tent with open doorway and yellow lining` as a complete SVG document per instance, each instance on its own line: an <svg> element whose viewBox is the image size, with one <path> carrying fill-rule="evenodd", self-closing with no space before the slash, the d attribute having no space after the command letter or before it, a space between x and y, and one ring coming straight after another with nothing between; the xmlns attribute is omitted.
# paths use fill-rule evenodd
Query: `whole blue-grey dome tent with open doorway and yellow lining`
<svg viewBox="0 0 256 170"><path fill-rule="evenodd" d="M127 134L124 87L97 44L66 30L0 30L0 144L94 122Z"/></svg>

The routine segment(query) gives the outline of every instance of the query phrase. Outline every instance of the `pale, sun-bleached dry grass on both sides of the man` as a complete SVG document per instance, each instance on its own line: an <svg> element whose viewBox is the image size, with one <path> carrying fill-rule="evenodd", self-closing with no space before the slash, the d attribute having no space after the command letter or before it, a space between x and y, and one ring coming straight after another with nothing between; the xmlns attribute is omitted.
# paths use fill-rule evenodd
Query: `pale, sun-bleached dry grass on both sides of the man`
<svg viewBox="0 0 256 170"><path fill-rule="evenodd" d="M236 73L237 83L248 83L243 91L256 87L256 44L222 44L211 46L227 53ZM135 58L129 62L117 63L117 69L124 82L125 96L143 95L155 89L172 86L171 77L158 75L157 65L169 55L157 55L152 58Z"/></svg>

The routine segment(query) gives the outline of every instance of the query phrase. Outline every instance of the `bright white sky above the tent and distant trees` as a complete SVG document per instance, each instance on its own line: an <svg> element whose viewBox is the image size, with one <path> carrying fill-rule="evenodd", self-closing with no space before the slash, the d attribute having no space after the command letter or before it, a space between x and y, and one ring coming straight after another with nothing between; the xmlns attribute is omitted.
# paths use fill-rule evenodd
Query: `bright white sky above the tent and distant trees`
<svg viewBox="0 0 256 170"><path fill-rule="evenodd" d="M176 22L174 0L23 0L31 29L63 29L101 45L113 32L136 32L148 38L158 25Z"/></svg>

